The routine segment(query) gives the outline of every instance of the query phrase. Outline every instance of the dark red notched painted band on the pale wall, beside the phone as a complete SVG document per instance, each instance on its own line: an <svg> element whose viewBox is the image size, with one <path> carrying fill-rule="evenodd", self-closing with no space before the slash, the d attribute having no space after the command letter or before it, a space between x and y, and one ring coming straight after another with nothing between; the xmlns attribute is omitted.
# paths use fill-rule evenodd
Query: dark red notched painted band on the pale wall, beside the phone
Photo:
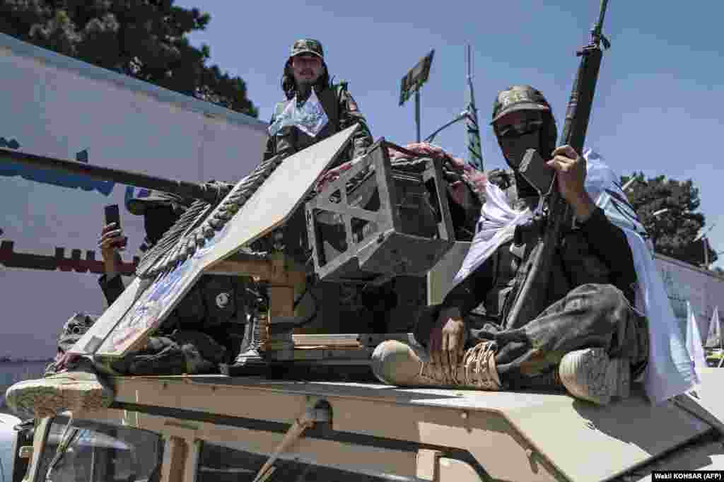
<svg viewBox="0 0 724 482"><path fill-rule="evenodd" d="M41 269L44 271L75 271L76 273L104 274L103 261L96 261L96 253L86 250L85 259L82 250L70 250L66 258L65 248L55 248L54 255L37 255L33 253L15 253L14 242L0 242L0 264L7 268ZM121 263L121 274L132 276L138 265L138 256L131 263Z"/></svg>

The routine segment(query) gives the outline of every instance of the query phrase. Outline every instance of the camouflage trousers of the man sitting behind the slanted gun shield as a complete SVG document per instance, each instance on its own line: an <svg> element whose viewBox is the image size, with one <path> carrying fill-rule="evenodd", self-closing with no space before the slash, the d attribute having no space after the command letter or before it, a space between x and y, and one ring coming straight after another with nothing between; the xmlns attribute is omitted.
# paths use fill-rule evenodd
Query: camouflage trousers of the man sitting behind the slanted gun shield
<svg viewBox="0 0 724 482"><path fill-rule="evenodd" d="M96 321L97 316L76 313L64 325L58 339L56 362L46 368L46 376L59 371L62 354L70 350ZM149 337L146 344L122 358L96 358L98 371L109 375L182 375L213 373L219 363L230 361L230 352L210 334L194 329L176 329L169 334ZM73 364L67 368L72 370Z"/></svg>

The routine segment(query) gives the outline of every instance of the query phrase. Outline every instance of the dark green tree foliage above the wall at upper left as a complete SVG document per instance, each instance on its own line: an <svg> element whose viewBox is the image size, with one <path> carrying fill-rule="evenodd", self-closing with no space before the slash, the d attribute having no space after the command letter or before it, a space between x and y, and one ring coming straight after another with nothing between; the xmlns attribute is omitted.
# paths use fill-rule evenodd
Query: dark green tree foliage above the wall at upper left
<svg viewBox="0 0 724 482"><path fill-rule="evenodd" d="M0 0L0 32L253 117L240 77L209 66L186 34L211 17L173 0Z"/></svg>

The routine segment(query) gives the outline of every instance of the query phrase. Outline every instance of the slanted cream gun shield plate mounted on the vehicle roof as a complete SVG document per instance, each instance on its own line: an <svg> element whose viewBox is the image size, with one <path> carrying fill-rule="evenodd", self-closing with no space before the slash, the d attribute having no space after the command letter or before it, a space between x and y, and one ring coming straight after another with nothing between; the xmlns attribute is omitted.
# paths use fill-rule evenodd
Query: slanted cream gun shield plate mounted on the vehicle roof
<svg viewBox="0 0 724 482"><path fill-rule="evenodd" d="M71 351L122 357L145 343L203 271L279 227L294 213L316 179L350 143L357 128L356 124L348 127L285 159L203 248L173 271L159 275L146 289L138 281L133 282Z"/></svg>

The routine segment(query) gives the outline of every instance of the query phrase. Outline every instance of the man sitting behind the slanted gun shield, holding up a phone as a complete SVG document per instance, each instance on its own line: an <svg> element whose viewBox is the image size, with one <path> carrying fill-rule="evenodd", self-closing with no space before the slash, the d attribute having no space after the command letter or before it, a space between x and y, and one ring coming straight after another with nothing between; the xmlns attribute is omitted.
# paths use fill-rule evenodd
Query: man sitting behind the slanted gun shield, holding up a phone
<svg viewBox="0 0 724 482"><path fill-rule="evenodd" d="M151 191L127 200L132 214L143 216L146 240L141 250L151 250L164 233L188 208L190 200ZM119 245L125 240L122 229L104 227L98 248L104 259L105 274L98 283L109 305L125 289L119 265ZM38 418L70 409L93 410L107 407L113 391L98 372L120 375L180 375L218 371L239 350L232 324L243 327L250 296L246 280L238 276L202 276L181 300L164 325L146 345L117 360L91 360L67 353L97 317L76 313L63 326L58 337L56 361L43 379L20 381L6 392L9 407L24 416ZM240 334L243 331L239 330Z"/></svg>

